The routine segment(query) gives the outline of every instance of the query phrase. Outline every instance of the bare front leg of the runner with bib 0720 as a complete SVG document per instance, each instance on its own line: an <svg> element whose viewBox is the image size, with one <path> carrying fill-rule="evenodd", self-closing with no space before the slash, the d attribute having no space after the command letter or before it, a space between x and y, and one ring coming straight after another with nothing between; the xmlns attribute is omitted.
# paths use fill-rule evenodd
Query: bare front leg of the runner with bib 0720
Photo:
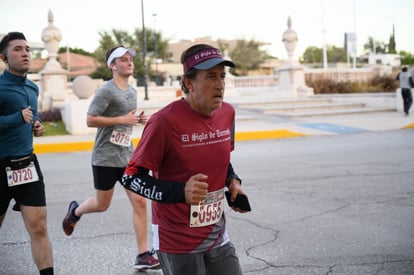
<svg viewBox="0 0 414 275"><path fill-rule="evenodd" d="M20 205L30 236L33 260L39 270L53 267L52 246L47 233L46 207Z"/></svg>

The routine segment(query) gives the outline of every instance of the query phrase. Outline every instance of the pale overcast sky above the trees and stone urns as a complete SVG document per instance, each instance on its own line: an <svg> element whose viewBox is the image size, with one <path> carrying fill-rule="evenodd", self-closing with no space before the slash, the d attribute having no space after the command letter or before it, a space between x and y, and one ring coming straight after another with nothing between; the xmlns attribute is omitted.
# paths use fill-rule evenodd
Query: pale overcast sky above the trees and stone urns
<svg viewBox="0 0 414 275"><path fill-rule="evenodd" d="M21 31L29 41L42 42L51 10L60 46L93 52L100 32L142 29L141 3L145 27L171 41L253 39L286 59L282 38L290 16L298 36L296 58L310 46L343 47L348 32L356 33L361 54L368 37L388 43L393 26L397 51L414 53L412 0L0 0L0 33Z"/></svg>

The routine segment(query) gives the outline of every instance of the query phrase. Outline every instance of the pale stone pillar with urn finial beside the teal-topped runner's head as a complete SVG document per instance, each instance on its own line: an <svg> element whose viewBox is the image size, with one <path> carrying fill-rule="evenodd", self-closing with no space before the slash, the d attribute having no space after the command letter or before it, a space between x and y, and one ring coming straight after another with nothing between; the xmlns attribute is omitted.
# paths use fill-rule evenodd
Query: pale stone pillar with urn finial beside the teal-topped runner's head
<svg viewBox="0 0 414 275"><path fill-rule="evenodd" d="M48 21L49 25L42 31L42 41L48 52L48 61L40 71L42 76L40 109L43 111L53 107L61 107L64 104L67 96L67 75L69 74L56 59L62 36L60 30L53 25L53 14L50 10Z"/></svg>

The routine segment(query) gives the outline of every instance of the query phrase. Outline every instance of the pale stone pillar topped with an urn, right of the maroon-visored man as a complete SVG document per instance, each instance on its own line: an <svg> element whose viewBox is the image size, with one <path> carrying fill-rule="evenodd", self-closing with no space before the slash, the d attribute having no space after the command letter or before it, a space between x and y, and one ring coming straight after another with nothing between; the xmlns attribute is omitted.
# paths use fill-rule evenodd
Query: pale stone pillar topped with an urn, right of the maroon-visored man
<svg viewBox="0 0 414 275"><path fill-rule="evenodd" d="M306 98L313 95L313 89L305 84L304 67L293 58L298 41L296 31L292 29L292 20L288 18L288 29L283 33L282 42L288 53L288 60L277 69L279 85L278 97L282 98Z"/></svg>

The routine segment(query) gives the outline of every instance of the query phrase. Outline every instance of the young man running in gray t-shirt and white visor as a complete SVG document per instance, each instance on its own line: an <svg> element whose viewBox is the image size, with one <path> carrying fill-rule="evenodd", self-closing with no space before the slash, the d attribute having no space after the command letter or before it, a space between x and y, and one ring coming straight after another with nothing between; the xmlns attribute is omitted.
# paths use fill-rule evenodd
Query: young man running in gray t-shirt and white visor
<svg viewBox="0 0 414 275"><path fill-rule="evenodd" d="M120 181L134 151L132 129L138 123L145 124L147 116L137 113L137 95L129 85L128 78L134 71L135 51L115 47L107 52L106 60L113 78L105 83L93 98L86 122L96 127L95 144L92 152L92 172L95 197L79 204L72 201L63 220L66 235L73 233L76 223L83 214L104 212L111 204L116 182ZM138 255L134 268L145 270L159 268L159 261L147 247L147 204L145 198L127 191L132 204L133 223L138 243Z"/></svg>

